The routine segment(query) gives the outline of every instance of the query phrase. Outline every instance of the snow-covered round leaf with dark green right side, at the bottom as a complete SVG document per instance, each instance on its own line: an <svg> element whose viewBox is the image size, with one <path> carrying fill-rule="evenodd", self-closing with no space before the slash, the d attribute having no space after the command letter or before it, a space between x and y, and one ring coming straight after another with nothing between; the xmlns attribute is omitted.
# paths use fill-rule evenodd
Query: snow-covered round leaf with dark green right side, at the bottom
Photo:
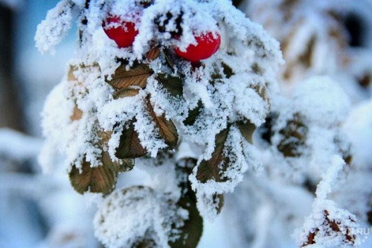
<svg viewBox="0 0 372 248"><path fill-rule="evenodd" d="M203 220L190 197L176 204L149 187L116 190L94 217L95 234L107 247L196 247Z"/></svg>

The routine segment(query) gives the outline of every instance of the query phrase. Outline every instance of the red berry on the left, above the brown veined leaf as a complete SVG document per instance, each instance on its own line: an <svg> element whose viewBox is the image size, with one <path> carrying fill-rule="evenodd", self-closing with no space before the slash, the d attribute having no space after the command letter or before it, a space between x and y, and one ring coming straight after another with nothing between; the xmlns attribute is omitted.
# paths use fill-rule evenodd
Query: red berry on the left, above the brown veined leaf
<svg viewBox="0 0 372 248"><path fill-rule="evenodd" d="M112 24L115 23L118 23L119 26L112 26ZM128 47L133 44L134 38L138 34L138 30L135 29L135 26L136 24L134 22L121 20L118 16L110 16L102 22L102 28L107 36L114 40L120 48Z"/></svg>

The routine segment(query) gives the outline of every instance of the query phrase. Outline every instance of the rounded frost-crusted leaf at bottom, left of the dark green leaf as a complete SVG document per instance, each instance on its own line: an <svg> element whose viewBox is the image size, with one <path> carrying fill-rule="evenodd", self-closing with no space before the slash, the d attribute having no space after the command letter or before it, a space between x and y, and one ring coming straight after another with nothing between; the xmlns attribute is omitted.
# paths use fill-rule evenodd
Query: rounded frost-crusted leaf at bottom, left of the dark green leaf
<svg viewBox="0 0 372 248"><path fill-rule="evenodd" d="M156 219L155 222L143 219L148 215L158 216L166 211L164 207L167 204L160 202L157 196L150 187L132 186L115 190L105 197L94 216L98 240L105 247L159 247L156 239L158 233L154 233L153 230L154 227L161 229L165 219ZM136 219L133 219L134 213L137 213ZM128 229L134 235L127 235Z"/></svg>

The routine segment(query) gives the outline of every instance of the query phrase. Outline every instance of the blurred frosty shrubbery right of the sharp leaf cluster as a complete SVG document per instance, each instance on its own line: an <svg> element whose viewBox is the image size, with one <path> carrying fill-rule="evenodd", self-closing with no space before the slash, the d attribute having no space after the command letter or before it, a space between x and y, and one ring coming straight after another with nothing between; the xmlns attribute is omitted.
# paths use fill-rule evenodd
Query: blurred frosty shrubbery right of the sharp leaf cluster
<svg viewBox="0 0 372 248"><path fill-rule="evenodd" d="M236 5L280 41L286 64L253 135L260 173L249 168L227 197L232 246L369 247L354 229L371 221L370 3Z"/></svg>

